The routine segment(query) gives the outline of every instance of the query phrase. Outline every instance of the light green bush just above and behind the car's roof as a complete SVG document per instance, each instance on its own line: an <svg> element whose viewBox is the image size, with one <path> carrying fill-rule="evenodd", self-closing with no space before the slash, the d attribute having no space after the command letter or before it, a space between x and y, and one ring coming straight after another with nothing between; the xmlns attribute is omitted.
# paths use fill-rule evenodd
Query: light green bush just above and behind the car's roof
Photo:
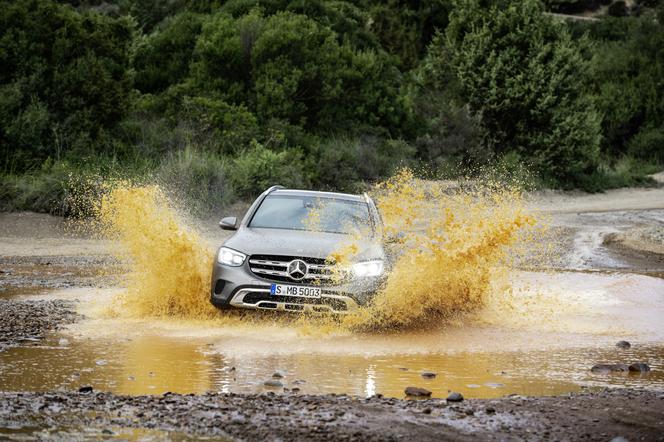
<svg viewBox="0 0 664 442"><path fill-rule="evenodd" d="M256 197L277 184L296 188L310 184L299 151L274 152L258 143L237 156L228 173L237 195L242 197Z"/></svg>

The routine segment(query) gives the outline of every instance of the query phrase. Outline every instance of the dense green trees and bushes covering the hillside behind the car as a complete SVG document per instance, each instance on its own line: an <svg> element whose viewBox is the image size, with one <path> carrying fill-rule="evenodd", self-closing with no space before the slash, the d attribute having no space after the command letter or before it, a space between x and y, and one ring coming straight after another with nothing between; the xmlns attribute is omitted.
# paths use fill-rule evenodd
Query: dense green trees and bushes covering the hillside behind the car
<svg viewBox="0 0 664 442"><path fill-rule="evenodd" d="M0 208L67 214L109 176L202 210L404 165L642 184L662 78L656 0L0 1Z"/></svg>

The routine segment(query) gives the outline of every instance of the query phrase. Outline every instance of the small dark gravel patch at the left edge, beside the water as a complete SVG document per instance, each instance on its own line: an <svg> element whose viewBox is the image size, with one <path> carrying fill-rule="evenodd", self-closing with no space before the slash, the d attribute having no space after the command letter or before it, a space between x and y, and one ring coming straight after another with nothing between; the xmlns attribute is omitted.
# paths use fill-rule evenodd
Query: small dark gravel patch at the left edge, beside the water
<svg viewBox="0 0 664 442"><path fill-rule="evenodd" d="M0 304L0 352L30 345L45 335L79 319L73 302L64 300L16 301Z"/></svg>

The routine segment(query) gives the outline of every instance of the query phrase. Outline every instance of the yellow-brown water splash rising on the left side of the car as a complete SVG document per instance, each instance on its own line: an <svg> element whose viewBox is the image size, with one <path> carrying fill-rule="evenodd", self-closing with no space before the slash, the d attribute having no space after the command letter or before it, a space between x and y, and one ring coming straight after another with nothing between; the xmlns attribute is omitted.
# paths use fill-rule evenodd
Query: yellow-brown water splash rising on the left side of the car
<svg viewBox="0 0 664 442"><path fill-rule="evenodd" d="M113 186L97 212L102 231L119 242L118 257L129 267L117 306L123 315L215 313L209 302L213 257L158 186Z"/></svg>

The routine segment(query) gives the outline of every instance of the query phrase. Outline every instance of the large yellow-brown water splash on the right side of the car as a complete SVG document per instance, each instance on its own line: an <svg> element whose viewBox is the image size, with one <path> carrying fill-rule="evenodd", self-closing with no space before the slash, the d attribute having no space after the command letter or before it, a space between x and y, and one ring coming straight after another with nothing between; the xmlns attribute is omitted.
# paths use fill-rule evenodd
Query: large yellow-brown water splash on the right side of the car
<svg viewBox="0 0 664 442"><path fill-rule="evenodd" d="M344 319L353 329L431 327L484 304L510 247L535 219L512 188L456 187L405 170L375 192L398 258L373 302Z"/></svg>

